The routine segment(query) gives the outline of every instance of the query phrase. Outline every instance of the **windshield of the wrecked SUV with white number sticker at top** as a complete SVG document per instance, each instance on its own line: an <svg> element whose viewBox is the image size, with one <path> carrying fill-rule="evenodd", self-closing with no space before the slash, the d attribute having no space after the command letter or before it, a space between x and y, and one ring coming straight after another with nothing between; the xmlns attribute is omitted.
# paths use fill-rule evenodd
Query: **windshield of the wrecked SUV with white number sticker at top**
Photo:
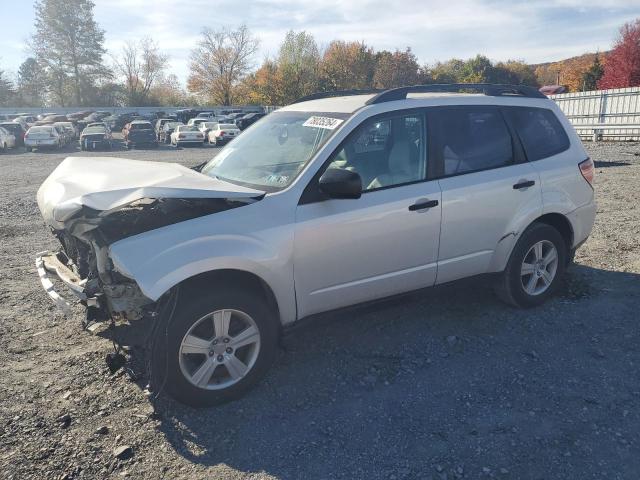
<svg viewBox="0 0 640 480"><path fill-rule="evenodd" d="M223 148L202 173L269 192L281 190L293 182L348 116L271 113Z"/></svg>

